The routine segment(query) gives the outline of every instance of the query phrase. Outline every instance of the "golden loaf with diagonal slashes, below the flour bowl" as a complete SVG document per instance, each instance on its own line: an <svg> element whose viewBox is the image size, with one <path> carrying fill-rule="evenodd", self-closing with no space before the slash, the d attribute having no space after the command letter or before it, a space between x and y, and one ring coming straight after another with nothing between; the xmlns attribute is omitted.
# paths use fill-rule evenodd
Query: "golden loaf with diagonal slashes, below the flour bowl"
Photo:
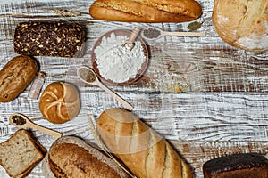
<svg viewBox="0 0 268 178"><path fill-rule="evenodd" d="M192 177L190 168L172 146L124 109L106 109L97 131L113 154L141 178Z"/></svg>

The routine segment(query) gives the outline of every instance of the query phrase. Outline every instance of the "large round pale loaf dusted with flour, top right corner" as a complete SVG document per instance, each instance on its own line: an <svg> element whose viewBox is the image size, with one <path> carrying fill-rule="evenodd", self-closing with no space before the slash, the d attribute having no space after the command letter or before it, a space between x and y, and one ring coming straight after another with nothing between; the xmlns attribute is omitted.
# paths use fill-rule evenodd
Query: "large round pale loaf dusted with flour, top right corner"
<svg viewBox="0 0 268 178"><path fill-rule="evenodd" d="M213 23L226 43L240 49L268 50L267 0L215 0Z"/></svg>

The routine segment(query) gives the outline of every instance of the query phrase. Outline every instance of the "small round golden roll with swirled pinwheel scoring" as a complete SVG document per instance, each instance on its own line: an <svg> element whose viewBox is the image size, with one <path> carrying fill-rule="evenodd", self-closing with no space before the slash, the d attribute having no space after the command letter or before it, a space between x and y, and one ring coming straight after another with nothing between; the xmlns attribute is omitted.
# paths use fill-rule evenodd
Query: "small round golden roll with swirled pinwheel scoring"
<svg viewBox="0 0 268 178"><path fill-rule="evenodd" d="M80 111L80 95L74 85L54 82L41 94L39 109L51 123L62 124L76 117Z"/></svg>

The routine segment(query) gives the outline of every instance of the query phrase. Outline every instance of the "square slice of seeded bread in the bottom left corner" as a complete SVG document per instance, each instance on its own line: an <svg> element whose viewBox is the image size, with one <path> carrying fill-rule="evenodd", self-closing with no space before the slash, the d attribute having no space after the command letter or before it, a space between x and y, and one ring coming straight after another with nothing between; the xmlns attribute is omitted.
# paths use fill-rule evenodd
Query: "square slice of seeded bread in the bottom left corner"
<svg viewBox="0 0 268 178"><path fill-rule="evenodd" d="M44 158L44 148L27 130L18 130L0 143L0 165L11 177L25 177Z"/></svg>

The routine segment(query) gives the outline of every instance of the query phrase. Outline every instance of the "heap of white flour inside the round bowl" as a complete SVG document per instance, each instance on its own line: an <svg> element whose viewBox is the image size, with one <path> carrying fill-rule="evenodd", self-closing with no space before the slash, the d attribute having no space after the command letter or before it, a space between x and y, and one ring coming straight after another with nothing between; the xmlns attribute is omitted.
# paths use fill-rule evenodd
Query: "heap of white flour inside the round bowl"
<svg viewBox="0 0 268 178"><path fill-rule="evenodd" d="M138 70L146 61L142 45L135 42L134 48L130 51L130 46L122 44L128 39L127 36L103 37L99 46L94 50L99 73L105 79L110 79L115 83L128 81L136 77Z"/></svg>

